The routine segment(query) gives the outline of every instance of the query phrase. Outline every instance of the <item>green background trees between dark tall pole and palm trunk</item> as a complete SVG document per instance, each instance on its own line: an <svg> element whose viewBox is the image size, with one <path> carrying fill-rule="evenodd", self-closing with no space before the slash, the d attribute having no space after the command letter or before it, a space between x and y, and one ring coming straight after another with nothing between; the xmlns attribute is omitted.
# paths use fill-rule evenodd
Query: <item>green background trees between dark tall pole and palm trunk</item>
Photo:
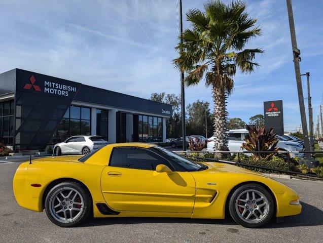
<svg viewBox="0 0 323 243"><path fill-rule="evenodd" d="M187 110L187 135L202 135L205 137L205 109L207 121L207 138L213 135L212 115L209 103L197 100L186 107Z"/></svg>

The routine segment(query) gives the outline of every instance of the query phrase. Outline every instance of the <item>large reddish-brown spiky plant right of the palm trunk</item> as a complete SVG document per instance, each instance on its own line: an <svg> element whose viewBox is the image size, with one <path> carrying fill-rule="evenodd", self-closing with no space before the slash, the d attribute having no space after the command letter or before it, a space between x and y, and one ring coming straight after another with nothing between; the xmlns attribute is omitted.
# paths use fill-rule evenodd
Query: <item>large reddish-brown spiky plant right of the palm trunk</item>
<svg viewBox="0 0 323 243"><path fill-rule="evenodd" d="M253 152L253 158L258 159L259 156L262 159L269 160L275 153L258 153L257 151L278 151L276 145L278 139L273 132L273 128L267 132L264 126L247 126L249 136L244 139L242 148L247 151Z"/></svg>

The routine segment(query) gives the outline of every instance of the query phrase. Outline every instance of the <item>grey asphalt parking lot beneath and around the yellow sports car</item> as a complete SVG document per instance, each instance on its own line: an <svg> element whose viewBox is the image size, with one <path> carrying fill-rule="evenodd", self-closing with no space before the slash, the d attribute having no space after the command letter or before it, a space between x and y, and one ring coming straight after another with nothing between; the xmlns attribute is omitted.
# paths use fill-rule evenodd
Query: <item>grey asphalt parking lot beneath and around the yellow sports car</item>
<svg viewBox="0 0 323 243"><path fill-rule="evenodd" d="M303 212L262 229L243 228L232 219L174 218L89 219L60 228L45 212L18 206L12 178L19 159L6 161L0 161L0 242L323 242L322 182L279 179L300 194Z"/></svg>

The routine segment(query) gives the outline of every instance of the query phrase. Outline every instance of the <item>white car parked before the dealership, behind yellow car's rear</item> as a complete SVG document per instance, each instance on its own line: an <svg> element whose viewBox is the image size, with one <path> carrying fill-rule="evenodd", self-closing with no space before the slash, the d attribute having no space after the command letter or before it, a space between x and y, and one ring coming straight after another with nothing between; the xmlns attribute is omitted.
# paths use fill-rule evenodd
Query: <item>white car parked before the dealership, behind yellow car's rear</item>
<svg viewBox="0 0 323 243"><path fill-rule="evenodd" d="M86 155L91 151L109 144L100 136L73 136L62 143L54 145L54 153L61 154L83 154Z"/></svg>

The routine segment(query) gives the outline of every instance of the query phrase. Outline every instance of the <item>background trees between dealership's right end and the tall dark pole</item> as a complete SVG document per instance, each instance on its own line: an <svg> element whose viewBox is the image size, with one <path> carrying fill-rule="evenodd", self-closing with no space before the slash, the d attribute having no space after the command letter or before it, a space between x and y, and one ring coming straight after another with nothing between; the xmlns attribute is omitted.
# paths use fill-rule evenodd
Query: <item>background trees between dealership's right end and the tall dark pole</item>
<svg viewBox="0 0 323 243"><path fill-rule="evenodd" d="M153 93L150 100L172 106L172 116L166 119L166 137L182 137L181 97L175 94Z"/></svg>

